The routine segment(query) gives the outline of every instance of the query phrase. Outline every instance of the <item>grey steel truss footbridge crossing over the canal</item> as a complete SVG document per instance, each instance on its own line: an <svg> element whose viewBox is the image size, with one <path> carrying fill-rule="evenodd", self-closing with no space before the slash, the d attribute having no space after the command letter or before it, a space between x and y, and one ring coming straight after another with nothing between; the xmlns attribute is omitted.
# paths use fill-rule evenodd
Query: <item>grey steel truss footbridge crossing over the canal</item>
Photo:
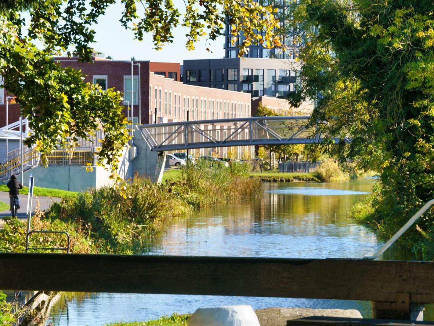
<svg viewBox="0 0 434 326"><path fill-rule="evenodd" d="M151 151L319 143L329 137L306 128L310 116L261 116L181 121L139 127ZM335 143L339 138L332 138Z"/></svg>

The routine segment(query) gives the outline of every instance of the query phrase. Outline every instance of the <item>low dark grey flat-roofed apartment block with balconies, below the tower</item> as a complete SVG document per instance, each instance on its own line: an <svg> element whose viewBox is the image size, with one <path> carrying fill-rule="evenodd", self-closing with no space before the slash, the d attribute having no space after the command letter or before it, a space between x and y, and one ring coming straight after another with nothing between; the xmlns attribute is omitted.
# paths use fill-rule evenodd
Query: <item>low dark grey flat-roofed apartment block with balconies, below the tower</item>
<svg viewBox="0 0 434 326"><path fill-rule="evenodd" d="M283 97L294 89L298 63L288 59L227 58L184 60L186 84Z"/></svg>

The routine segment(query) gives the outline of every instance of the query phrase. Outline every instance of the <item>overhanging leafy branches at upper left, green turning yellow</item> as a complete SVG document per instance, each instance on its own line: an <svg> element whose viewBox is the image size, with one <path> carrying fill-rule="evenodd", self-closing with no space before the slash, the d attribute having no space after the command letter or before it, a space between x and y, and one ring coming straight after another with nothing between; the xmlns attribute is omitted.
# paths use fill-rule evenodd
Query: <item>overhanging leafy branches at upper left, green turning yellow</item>
<svg viewBox="0 0 434 326"><path fill-rule="evenodd" d="M223 35L226 16L230 16L233 40L240 33L245 36L240 55L253 42L265 47L279 45L273 32L277 26L274 8L252 0L188 0L182 20L171 0L121 2L125 10L120 13L120 23L138 40L152 33L156 49L173 41L172 31L179 24L189 29L188 49L194 49L194 42L204 35L214 40ZM98 160L116 170L116 157L129 139L124 107L120 105L122 94L83 83L79 71L62 68L52 60L67 53L90 62L95 34L92 25L113 3L115 0L0 2L0 74L4 88L20 103L22 115L30 118L33 134L26 144L36 144L42 159L57 143L68 146L68 137L86 137L102 126L105 139ZM24 11L30 15L27 25L21 14ZM261 35L262 30L265 35Z"/></svg>

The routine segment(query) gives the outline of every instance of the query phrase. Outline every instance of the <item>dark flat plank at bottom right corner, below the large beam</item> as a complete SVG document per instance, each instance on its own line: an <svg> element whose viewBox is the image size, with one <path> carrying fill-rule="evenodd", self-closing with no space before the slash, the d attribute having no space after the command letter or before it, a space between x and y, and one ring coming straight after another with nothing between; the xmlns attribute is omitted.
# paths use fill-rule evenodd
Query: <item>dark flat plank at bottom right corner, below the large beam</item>
<svg viewBox="0 0 434 326"><path fill-rule="evenodd" d="M310 316L291 319L286 326L433 326L431 321Z"/></svg>

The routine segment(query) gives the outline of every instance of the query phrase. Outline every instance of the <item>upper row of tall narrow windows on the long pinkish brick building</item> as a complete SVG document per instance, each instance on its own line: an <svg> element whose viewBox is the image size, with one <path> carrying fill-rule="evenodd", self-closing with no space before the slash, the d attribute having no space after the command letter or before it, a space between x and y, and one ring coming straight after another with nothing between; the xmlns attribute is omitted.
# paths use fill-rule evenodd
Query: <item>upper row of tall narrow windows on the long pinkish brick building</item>
<svg viewBox="0 0 434 326"><path fill-rule="evenodd" d="M164 97L163 97L164 94ZM185 96L173 93L171 90L149 86L149 107L157 109L159 115L173 116L187 120L186 112L190 113L189 120L229 119L250 116L250 103L234 102ZM151 110L155 112L154 110Z"/></svg>

